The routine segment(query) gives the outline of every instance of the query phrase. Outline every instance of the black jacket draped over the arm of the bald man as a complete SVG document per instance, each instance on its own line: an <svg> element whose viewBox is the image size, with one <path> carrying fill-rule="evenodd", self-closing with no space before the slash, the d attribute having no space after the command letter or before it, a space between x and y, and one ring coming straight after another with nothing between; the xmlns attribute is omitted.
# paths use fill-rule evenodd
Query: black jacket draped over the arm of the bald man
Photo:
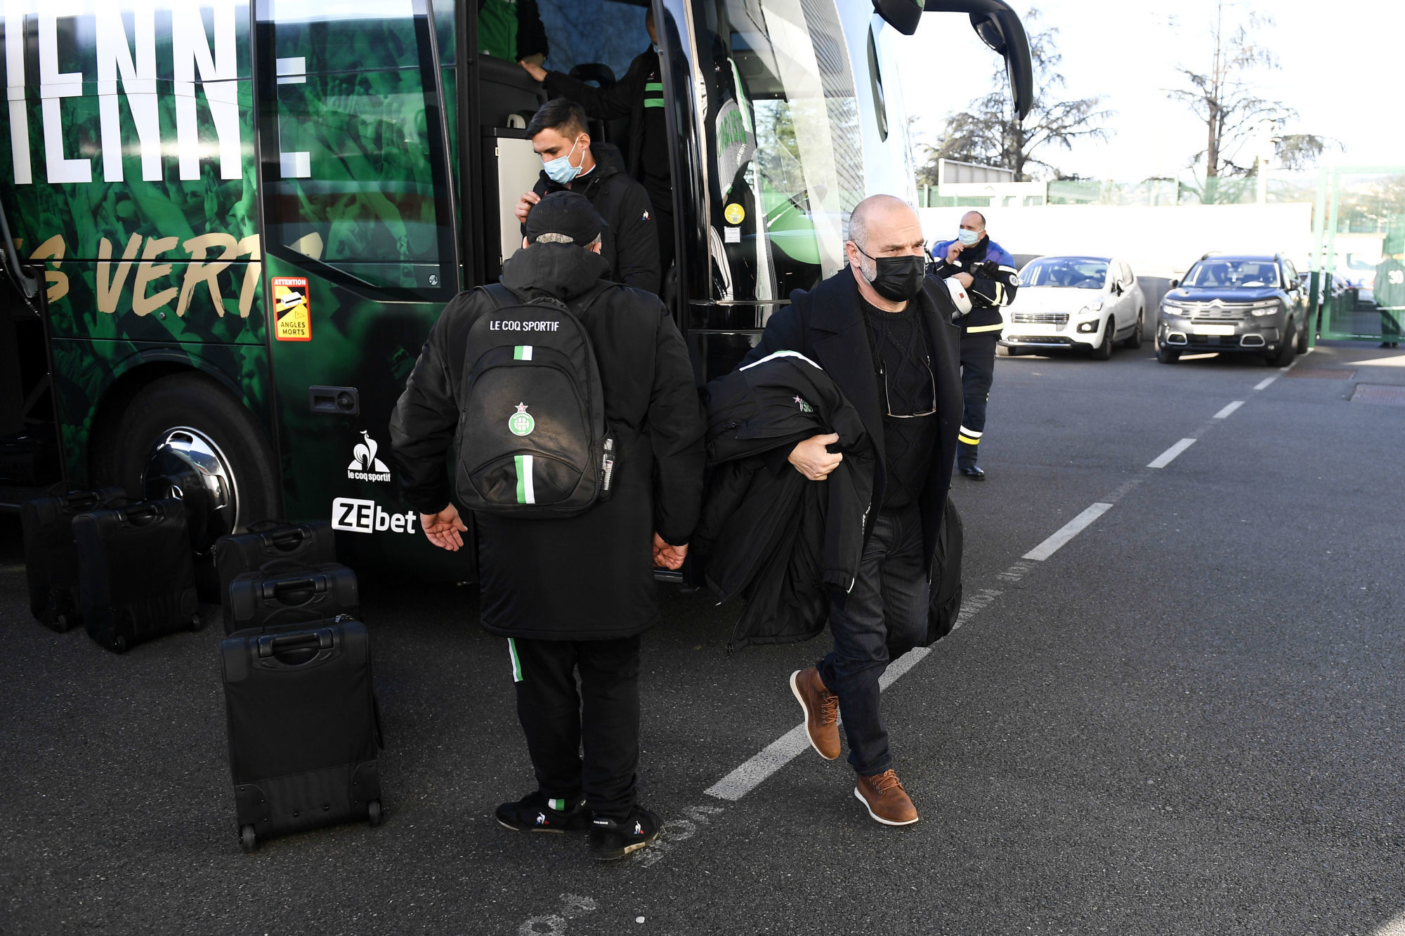
<svg viewBox="0 0 1405 936"><path fill-rule="evenodd" d="M778 351L704 391L714 467L694 535L704 580L746 606L729 649L804 641L854 585L873 500L874 446L858 412L818 364ZM788 461L795 443L836 433L844 460L826 481Z"/></svg>

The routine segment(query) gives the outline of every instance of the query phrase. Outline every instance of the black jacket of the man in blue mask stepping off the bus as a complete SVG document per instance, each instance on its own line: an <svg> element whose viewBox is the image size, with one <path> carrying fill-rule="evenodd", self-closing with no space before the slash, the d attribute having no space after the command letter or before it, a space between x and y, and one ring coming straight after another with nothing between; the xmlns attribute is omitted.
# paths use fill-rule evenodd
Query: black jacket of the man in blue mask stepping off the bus
<svg viewBox="0 0 1405 936"><path fill-rule="evenodd" d="M610 264L608 278L646 292L659 291L659 230L653 226L653 207L649 193L624 171L620 148L611 143L590 143L596 167L577 176L569 186L558 186L541 170L538 195L554 191L577 191L606 219L600 239L600 256Z"/></svg>

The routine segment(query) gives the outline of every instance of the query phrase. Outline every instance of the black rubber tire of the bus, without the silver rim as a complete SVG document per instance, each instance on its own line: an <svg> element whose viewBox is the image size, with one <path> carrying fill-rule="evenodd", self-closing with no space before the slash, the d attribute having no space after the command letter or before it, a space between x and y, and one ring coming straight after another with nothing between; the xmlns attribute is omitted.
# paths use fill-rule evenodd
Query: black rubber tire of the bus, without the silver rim
<svg viewBox="0 0 1405 936"><path fill-rule="evenodd" d="M273 447L243 405L214 379L197 372L156 379L115 415L100 455L105 478L133 498L142 496L142 474L152 450L174 429L204 436L219 454L235 495L235 528L281 516L280 479ZM218 530L212 533L228 533Z"/></svg>

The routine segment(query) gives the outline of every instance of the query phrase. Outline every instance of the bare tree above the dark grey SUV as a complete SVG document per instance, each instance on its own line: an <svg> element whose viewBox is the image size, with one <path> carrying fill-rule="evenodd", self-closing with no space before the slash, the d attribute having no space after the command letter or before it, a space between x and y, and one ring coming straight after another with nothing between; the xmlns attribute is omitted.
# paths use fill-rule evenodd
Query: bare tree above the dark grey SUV
<svg viewBox="0 0 1405 936"><path fill-rule="evenodd" d="M1235 160L1243 145L1259 131L1259 125L1270 122L1281 126L1298 115L1283 101L1259 97L1253 83L1255 72L1279 67L1273 52L1256 39L1273 27L1273 18L1250 11L1243 21L1227 24L1225 7L1231 6L1235 4L1227 0L1215 4L1208 69L1177 66L1183 86L1166 91L1168 97L1187 104L1205 122L1205 148L1191 157L1191 166L1204 163L1207 178L1252 171L1253 160ZM1279 162L1286 169L1309 166L1332 145L1325 136L1312 134L1276 138ZM1253 153L1253 157L1257 159L1259 155Z"/></svg>

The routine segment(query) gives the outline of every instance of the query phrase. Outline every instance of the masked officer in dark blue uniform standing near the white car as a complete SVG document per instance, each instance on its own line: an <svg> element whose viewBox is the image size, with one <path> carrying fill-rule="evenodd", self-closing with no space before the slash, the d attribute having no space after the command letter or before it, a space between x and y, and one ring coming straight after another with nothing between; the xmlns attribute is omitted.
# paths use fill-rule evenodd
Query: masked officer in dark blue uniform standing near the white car
<svg viewBox="0 0 1405 936"><path fill-rule="evenodd" d="M991 240L979 211L968 211L961 218L957 239L934 246L932 257L932 273L960 282L971 299L971 311L955 319L961 326L961 395L965 401L957 436L957 468L971 481L985 481L985 471L975 462L995 377L995 346L1005 327L1000 309L1014 301L1019 288L1014 257Z"/></svg>

